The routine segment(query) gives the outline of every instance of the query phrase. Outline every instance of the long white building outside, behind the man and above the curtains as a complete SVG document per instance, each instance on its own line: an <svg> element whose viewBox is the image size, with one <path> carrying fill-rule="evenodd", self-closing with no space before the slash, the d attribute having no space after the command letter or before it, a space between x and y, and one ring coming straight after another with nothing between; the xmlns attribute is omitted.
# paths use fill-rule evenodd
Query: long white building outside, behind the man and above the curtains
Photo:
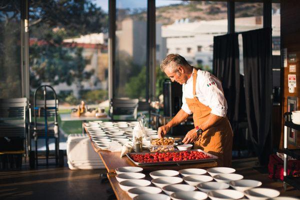
<svg viewBox="0 0 300 200"><path fill-rule="evenodd" d="M280 15L272 16L273 55L279 55ZM260 29L262 16L235 18L236 32ZM166 39L167 54L183 56L193 66L212 69L213 37L227 34L227 19L189 22L178 20L174 24L161 27L162 38ZM242 52L241 52L242 53ZM242 54L241 54L242 56Z"/></svg>

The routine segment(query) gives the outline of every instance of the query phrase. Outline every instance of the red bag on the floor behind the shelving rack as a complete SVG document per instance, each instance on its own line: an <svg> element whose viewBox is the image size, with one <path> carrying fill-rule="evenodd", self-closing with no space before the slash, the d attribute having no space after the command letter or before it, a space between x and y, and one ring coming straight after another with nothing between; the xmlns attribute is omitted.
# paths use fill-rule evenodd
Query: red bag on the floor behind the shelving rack
<svg viewBox="0 0 300 200"><path fill-rule="evenodd" d="M280 179L283 181L283 160L276 154L269 156L268 177L271 179ZM300 175L300 160L287 161L287 175Z"/></svg>

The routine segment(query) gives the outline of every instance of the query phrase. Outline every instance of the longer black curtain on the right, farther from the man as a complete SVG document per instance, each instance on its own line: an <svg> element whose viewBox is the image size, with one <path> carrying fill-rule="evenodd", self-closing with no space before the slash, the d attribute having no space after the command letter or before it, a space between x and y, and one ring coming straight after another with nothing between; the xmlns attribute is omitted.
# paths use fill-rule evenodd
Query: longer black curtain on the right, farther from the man
<svg viewBox="0 0 300 200"><path fill-rule="evenodd" d="M242 43L249 134L259 164L265 165L271 153L271 29L243 32Z"/></svg>

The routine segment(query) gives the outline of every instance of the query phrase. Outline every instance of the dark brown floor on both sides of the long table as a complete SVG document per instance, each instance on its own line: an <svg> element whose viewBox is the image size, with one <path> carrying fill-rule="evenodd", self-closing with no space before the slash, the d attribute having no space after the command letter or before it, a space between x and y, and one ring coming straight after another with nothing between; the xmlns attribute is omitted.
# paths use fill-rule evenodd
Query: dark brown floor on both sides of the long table
<svg viewBox="0 0 300 200"><path fill-rule="evenodd" d="M300 191L288 186L283 191L282 182L267 177L266 171L260 173L253 168L255 158L233 160L232 165L244 178L260 180L264 187L274 188L281 195L300 198ZM0 199L107 199L110 185L101 183L100 173L106 170L70 170L65 167L38 167L29 170L28 164L18 171L0 171Z"/></svg>

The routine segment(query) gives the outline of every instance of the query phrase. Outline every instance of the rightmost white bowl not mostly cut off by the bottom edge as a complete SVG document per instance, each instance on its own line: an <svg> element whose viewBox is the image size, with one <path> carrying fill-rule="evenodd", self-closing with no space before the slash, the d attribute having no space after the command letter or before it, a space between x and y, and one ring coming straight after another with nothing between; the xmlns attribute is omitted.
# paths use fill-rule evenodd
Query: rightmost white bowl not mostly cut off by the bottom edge
<svg viewBox="0 0 300 200"><path fill-rule="evenodd" d="M252 188L244 191L245 196L249 199L268 199L279 196L280 192L275 189L269 188Z"/></svg>

